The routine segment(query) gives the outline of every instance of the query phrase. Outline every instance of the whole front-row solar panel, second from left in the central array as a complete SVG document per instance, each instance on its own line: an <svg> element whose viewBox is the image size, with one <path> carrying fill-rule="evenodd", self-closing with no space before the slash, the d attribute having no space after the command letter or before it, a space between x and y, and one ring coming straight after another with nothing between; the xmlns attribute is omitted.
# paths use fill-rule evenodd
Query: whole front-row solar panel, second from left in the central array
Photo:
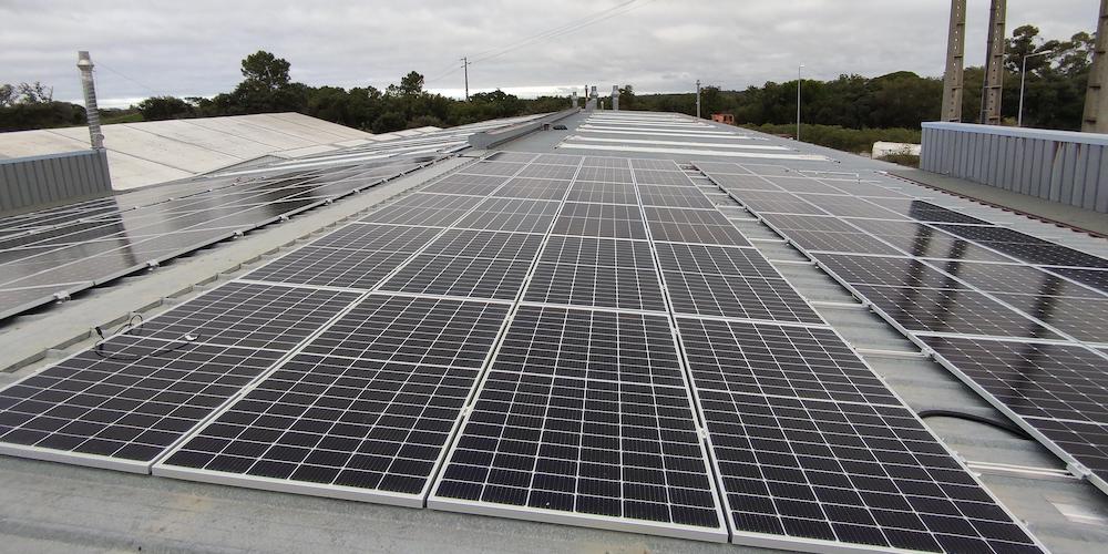
<svg viewBox="0 0 1108 554"><path fill-rule="evenodd" d="M370 296L155 473L422 506L506 315Z"/></svg>

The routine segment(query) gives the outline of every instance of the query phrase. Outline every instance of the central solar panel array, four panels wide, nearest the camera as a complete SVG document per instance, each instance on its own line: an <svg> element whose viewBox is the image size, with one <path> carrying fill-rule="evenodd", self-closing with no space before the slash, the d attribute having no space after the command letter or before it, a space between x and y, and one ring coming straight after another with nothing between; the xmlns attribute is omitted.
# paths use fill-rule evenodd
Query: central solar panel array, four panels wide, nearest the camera
<svg viewBox="0 0 1108 554"><path fill-rule="evenodd" d="M0 401L16 455L742 544L1039 551L673 162L495 154Z"/></svg>

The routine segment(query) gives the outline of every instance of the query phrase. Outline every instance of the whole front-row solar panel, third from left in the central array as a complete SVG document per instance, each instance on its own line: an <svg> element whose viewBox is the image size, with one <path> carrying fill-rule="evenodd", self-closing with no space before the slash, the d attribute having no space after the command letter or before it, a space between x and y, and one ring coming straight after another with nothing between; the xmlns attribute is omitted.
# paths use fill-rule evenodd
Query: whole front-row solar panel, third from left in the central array
<svg viewBox="0 0 1108 554"><path fill-rule="evenodd" d="M522 306L428 505L726 540L667 319Z"/></svg>

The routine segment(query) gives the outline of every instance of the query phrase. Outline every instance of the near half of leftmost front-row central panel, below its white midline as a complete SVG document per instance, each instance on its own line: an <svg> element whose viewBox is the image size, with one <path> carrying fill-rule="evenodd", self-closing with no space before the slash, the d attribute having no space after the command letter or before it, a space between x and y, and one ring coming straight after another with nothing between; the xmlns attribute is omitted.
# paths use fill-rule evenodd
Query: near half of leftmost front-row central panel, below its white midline
<svg viewBox="0 0 1108 554"><path fill-rule="evenodd" d="M0 391L0 452L146 473L283 356L115 337Z"/></svg>

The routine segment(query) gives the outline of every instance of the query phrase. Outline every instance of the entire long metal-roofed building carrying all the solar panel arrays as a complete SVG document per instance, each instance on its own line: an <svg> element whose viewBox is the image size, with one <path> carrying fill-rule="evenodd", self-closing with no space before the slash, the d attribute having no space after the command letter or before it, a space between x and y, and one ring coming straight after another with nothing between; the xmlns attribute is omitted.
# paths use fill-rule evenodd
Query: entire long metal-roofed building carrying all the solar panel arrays
<svg viewBox="0 0 1108 554"><path fill-rule="evenodd" d="M23 208L3 544L1096 551L1097 202L982 181L573 109Z"/></svg>

